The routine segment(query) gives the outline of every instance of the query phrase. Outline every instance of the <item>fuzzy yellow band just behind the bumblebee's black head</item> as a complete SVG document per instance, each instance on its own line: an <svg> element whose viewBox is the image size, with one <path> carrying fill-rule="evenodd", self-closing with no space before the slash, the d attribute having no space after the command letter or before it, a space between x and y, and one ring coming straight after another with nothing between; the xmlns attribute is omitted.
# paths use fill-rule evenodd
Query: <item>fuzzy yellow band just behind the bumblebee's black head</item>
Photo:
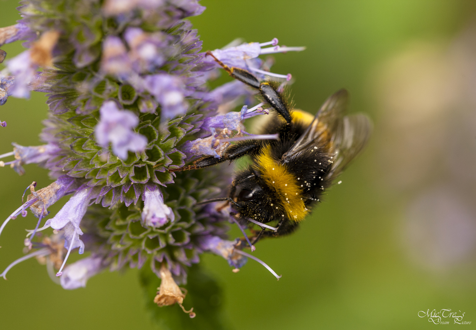
<svg viewBox="0 0 476 330"><path fill-rule="evenodd" d="M309 212L301 196L302 189L297 184L296 176L271 157L270 150L268 145L256 157L255 169L262 173L263 180L276 192L288 218L301 221Z"/></svg>

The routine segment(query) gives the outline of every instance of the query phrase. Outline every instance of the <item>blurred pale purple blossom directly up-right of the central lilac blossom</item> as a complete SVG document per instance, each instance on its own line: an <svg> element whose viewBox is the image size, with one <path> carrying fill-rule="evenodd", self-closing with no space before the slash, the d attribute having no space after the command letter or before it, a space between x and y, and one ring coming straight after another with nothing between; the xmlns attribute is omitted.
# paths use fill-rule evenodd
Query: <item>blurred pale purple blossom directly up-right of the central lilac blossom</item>
<svg viewBox="0 0 476 330"><path fill-rule="evenodd" d="M144 78L145 88L161 105L161 119L166 120L185 114L185 85L182 80L167 73L149 75Z"/></svg>

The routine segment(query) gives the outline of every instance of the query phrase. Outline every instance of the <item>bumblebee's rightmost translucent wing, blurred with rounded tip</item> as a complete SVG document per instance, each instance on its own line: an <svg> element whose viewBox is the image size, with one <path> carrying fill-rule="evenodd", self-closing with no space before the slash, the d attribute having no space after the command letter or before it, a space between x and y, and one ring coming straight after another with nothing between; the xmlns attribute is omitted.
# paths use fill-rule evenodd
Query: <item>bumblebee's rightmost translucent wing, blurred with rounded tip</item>
<svg viewBox="0 0 476 330"><path fill-rule="evenodd" d="M327 172L331 180L339 175L367 144L372 131L372 123L364 114L342 117L331 137L332 165Z"/></svg>

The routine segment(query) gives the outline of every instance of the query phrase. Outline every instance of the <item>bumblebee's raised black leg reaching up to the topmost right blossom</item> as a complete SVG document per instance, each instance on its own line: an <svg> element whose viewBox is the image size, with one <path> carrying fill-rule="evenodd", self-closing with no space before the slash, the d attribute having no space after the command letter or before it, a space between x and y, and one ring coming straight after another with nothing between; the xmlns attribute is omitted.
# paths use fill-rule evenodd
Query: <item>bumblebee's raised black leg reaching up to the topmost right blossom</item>
<svg viewBox="0 0 476 330"><path fill-rule="evenodd" d="M268 102L288 124L291 123L291 113L289 112L286 103L283 102L281 93L279 93L275 87L271 86L268 82L260 83L258 79L247 70L236 67L230 68L228 65L218 60L210 51L207 52L207 55L213 57L230 76L242 83L246 83L248 86L258 89L265 101Z"/></svg>

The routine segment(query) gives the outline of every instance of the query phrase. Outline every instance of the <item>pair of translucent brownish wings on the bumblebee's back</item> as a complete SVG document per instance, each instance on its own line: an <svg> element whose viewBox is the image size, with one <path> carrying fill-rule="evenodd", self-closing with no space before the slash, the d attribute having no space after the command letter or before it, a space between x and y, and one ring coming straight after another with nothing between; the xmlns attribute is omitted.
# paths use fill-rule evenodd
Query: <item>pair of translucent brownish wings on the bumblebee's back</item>
<svg viewBox="0 0 476 330"><path fill-rule="evenodd" d="M332 156L332 165L327 177L331 179L337 177L362 150L372 131L372 124L367 116L363 114L344 116L347 98L348 93L344 89L331 95L304 134L283 155L282 160L290 161L293 156L305 152L308 146L324 146Z"/></svg>

